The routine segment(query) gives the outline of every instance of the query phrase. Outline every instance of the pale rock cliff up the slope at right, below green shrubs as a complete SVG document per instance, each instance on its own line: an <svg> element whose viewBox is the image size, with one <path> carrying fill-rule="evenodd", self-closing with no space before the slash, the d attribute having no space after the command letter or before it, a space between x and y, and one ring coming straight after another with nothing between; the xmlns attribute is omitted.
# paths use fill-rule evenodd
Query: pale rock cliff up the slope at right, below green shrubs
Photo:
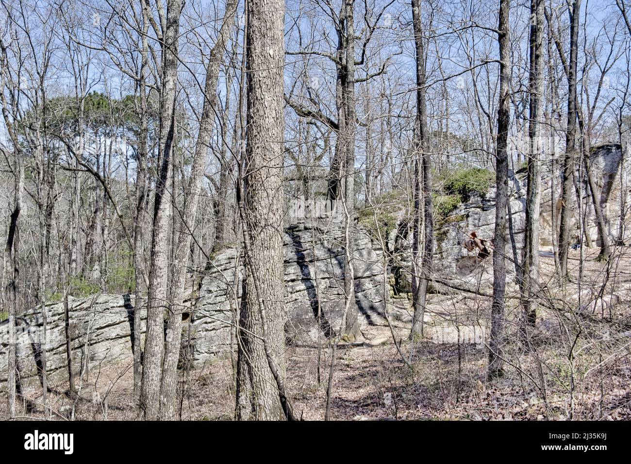
<svg viewBox="0 0 631 464"><path fill-rule="evenodd" d="M622 151L620 145L610 144L594 148L590 155L590 171L598 192L597 201L604 211L606 229L611 243L619 241L628 244L631 234L631 154L628 148ZM560 165L557 165L555 175L552 175L551 165L544 164L541 169L541 213L540 213L540 246L544 251L551 251L553 234L558 234L560 218ZM580 184L581 211L585 211L585 234L592 242L592 246L599 245L596 216L594 214L593 199L589 187L584 182ZM509 232L507 234L506 256L512 257L514 251L510 240L510 232L514 237L518 256L524 243L524 227L526 224L526 172L521 170L512 175L509 180L510 215ZM579 220L579 205L576 195L572 193L570 245L580 243L581 221ZM557 224L553 232L552 220ZM466 278L471 275L483 275L483 280L489 282L491 277L488 265L490 263L475 263L475 253L467 251L461 243L469 232L475 230L478 237L492 241L495 228L495 188L484 196L474 195L463 205L451 212L436 232L437 270L445 275L458 275ZM556 238L555 238L556 240ZM583 241L585 245L585 240ZM488 261L488 260L487 260ZM511 270L509 266L509 271ZM476 271L476 272L474 272Z"/></svg>

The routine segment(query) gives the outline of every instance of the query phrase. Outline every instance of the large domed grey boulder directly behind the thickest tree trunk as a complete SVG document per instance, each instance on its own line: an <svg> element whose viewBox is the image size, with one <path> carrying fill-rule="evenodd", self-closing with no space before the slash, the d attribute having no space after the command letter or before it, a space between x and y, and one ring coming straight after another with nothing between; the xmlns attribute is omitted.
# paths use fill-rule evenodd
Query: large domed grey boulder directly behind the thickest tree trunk
<svg viewBox="0 0 631 464"><path fill-rule="evenodd" d="M345 311L343 237L343 229L334 223L300 222L285 229L288 343L309 345L339 331ZM361 229L355 233L353 258L360 326L384 323L382 251ZM201 280L191 324L196 362L230 352L233 314L240 304L238 260L234 250L221 253Z"/></svg>

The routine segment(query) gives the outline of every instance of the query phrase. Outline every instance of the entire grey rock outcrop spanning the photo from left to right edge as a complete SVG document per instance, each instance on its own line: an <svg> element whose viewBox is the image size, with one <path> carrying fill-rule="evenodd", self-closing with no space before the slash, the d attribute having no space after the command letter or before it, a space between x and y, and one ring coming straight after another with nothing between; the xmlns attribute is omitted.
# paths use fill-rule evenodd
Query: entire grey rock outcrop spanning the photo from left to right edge
<svg viewBox="0 0 631 464"><path fill-rule="evenodd" d="M620 146L606 145L591 155L591 170L598 185L599 199L606 211L608 231L613 242L628 241L630 162L628 153L622 156ZM542 173L540 234L541 246L551 245L553 208L558 220L560 181L551 177L550 167ZM517 252L521 256L525 222L525 173L512 178L510 222ZM587 189L582 188L582 191ZM445 280L475 281L476 285L492 282L490 259L477 263L474 254L461 242L471 231L490 241L495 222L495 192L473 196L437 227L435 270ZM597 239L591 198L587 205L587 234ZM621 213L622 211L622 213ZM574 220L573 239L578 240L579 223ZM399 230L401 232L401 230ZM507 237L509 238L509 237ZM356 252L355 302L363 326L382 324L384 308L392 310L393 318L410 319L406 292L410 291L410 244L396 231L389 237L391 249L386 253L387 282L384 281L384 253L365 230L355 234ZM512 256L510 239L507 256ZM233 345L233 314L239 306L240 254L228 249L218 254L212 265L196 280L187 304L190 315L184 324L182 337L185 350L182 358L195 364L211 362L230 352ZM510 266L509 266L510 270ZM407 282L406 282L407 280ZM285 230L285 302L287 309L286 336L289 343L312 344L339 330L344 311L344 249L343 230L326 220L302 222ZM387 283L387 285L386 285ZM394 297L394 298L392 298ZM398 298L397 298L398 297ZM402 297L402 298L401 298ZM129 295L94 295L86 299L70 298L68 302L74 369L86 372L98 369L101 363L127 362L133 354L134 302ZM48 314L48 371L50 378L66 378L66 345L64 304L50 304ZM0 383L6 381L8 324L0 323ZM18 354L23 384L37 384L37 364L43 343L41 308L35 308L18 320ZM142 336L142 335L141 335ZM189 349L187 349L189 348Z"/></svg>

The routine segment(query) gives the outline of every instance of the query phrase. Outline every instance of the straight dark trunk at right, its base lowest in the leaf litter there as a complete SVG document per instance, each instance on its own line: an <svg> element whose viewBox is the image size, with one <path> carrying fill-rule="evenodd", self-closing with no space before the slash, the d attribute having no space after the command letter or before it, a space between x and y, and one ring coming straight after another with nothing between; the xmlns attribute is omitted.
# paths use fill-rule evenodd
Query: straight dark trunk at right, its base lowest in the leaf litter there
<svg viewBox="0 0 631 464"><path fill-rule="evenodd" d="M501 376L504 350L504 294L506 290L506 211L508 203L507 152L510 108L510 0L500 0L498 44L500 47L500 94L497 110L497 145L495 147L495 237L493 237L493 303L491 306L491 340L488 377Z"/></svg>

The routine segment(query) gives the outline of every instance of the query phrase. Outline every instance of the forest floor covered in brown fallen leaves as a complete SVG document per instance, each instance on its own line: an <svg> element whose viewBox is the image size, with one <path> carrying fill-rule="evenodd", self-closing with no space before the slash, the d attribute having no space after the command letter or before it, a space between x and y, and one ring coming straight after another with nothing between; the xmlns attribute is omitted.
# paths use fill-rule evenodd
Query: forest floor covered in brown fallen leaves
<svg viewBox="0 0 631 464"><path fill-rule="evenodd" d="M408 342L409 324L392 323L400 353L387 324L370 326L365 345L336 350L331 419L631 419L631 249L620 250L608 265L587 256L581 311L577 282L555 288L553 260L543 254L542 282L550 283L529 350L519 341L518 300L509 287L505 375L491 382L487 340L466 331L487 331L488 297L432 295L422 340ZM572 275L578 258L573 251ZM460 343L455 328L463 333ZM331 348L288 347L286 357L295 411L305 420L324 419ZM233 419L232 372L230 360L180 371L180 418ZM131 364L102 366L81 384L80 400L62 394L67 385L53 386L53 418L136 419ZM35 409L22 418L41 418L41 397L30 399Z"/></svg>

